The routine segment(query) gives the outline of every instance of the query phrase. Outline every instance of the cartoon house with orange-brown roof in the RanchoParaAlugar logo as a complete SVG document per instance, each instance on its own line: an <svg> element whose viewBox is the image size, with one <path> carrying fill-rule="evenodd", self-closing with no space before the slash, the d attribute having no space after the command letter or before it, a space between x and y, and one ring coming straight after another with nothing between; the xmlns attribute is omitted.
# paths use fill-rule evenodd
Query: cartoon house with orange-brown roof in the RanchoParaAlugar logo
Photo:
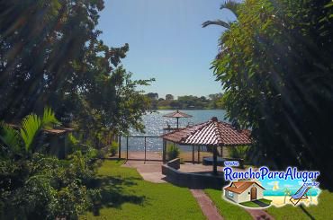
<svg viewBox="0 0 333 220"><path fill-rule="evenodd" d="M224 196L241 203L264 198L264 190L257 181L233 181L224 188Z"/></svg>

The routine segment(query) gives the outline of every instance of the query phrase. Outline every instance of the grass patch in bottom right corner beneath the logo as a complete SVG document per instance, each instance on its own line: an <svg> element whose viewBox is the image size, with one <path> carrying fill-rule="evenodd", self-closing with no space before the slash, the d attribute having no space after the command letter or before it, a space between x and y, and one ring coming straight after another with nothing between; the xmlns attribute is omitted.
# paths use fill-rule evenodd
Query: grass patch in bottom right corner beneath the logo
<svg viewBox="0 0 333 220"><path fill-rule="evenodd" d="M333 219L333 193L323 190L320 193L318 206L310 207L286 205L284 207L269 207L266 211L276 219Z"/></svg>

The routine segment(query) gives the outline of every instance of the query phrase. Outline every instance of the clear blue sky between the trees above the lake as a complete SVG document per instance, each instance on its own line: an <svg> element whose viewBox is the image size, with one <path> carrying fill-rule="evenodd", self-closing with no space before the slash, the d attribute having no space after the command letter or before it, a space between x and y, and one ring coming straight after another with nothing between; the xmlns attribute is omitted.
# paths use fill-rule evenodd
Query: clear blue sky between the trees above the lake
<svg viewBox="0 0 333 220"><path fill-rule="evenodd" d="M109 47L129 43L122 65L133 79L155 78L146 92L208 95L222 92L210 69L224 29L207 20L233 20L222 0L105 0L97 28Z"/></svg>

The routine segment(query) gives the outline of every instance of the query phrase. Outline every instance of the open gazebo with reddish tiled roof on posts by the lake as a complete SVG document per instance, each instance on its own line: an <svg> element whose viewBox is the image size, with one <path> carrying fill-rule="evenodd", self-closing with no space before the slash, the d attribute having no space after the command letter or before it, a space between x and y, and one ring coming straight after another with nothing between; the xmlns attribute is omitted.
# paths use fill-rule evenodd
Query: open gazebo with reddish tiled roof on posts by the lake
<svg viewBox="0 0 333 220"><path fill-rule="evenodd" d="M217 147L251 145L250 131L239 130L216 117L207 122L187 128L181 128L163 135L163 160L166 160L166 141L178 145L207 145L212 147L213 174L217 172ZM221 151L222 152L222 151ZM222 156L222 155L221 155Z"/></svg>

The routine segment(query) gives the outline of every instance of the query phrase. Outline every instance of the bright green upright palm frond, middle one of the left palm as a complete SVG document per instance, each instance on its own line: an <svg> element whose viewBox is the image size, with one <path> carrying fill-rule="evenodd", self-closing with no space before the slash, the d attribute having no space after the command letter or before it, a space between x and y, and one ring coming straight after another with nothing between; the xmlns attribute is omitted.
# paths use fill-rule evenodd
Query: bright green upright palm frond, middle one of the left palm
<svg viewBox="0 0 333 220"><path fill-rule="evenodd" d="M31 114L23 119L20 133L23 138L26 151L31 150L31 144L41 128L41 119L37 115Z"/></svg>

